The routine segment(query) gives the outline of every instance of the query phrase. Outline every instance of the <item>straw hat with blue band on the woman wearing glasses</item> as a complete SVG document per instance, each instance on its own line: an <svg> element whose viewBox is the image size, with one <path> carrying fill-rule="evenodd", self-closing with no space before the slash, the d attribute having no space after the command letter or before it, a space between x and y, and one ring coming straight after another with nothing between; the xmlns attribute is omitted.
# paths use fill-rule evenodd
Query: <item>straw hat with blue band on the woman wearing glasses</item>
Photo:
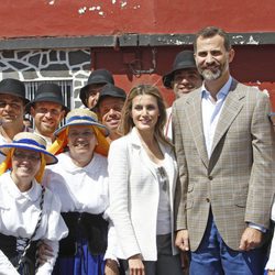
<svg viewBox="0 0 275 275"><path fill-rule="evenodd" d="M0 145L0 152L4 155L11 148L24 148L44 154L46 164L55 164L58 160L46 151L46 141L35 133L21 132L14 135L11 143Z"/></svg>

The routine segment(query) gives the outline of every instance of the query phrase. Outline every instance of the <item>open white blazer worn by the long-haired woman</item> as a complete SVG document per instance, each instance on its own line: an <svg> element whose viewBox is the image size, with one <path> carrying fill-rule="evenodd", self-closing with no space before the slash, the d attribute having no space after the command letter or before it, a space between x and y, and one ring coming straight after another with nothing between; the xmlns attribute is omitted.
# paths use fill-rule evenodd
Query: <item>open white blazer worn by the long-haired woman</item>
<svg viewBox="0 0 275 275"><path fill-rule="evenodd" d="M144 151L134 128L111 143L108 170L110 218L118 238L116 256L129 258L141 254L145 261L157 260L156 222L160 187L155 167ZM173 147L160 143L169 178L170 228L174 246L174 193L177 164ZM168 167L168 168L167 168Z"/></svg>

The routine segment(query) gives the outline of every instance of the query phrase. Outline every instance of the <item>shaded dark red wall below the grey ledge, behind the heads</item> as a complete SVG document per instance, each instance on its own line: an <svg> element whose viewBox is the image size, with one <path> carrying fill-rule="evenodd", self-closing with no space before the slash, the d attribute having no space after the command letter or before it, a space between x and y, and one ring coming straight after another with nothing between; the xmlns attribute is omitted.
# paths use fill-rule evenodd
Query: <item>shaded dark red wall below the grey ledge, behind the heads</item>
<svg viewBox="0 0 275 275"><path fill-rule="evenodd" d="M120 48L119 51L114 51L113 48L92 48L91 59L94 62L91 69L109 69L113 73L117 86L124 88L125 91L129 91L133 86L141 82L156 85L169 106L174 100L174 92L163 86L162 76L170 70L176 54L187 48L191 47L157 47L155 72L141 76L132 73L131 67L127 64L127 62L131 62L131 58L123 56L129 56L129 53L132 54L136 64L141 66L141 69L148 69L152 67L151 47L130 47ZM241 82L258 86L262 90L267 89L273 110L275 111L275 45L234 46L234 50L235 56L230 64L232 76ZM133 67L140 68L138 65Z"/></svg>

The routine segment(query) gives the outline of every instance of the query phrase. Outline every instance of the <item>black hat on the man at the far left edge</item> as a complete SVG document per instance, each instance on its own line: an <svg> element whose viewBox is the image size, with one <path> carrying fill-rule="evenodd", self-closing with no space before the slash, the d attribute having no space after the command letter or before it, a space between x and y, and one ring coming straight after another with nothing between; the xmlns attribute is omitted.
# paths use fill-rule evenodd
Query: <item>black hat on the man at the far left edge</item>
<svg viewBox="0 0 275 275"><path fill-rule="evenodd" d="M0 81L0 94L11 95L23 99L24 105L30 100L25 97L25 85L13 78L6 78Z"/></svg>

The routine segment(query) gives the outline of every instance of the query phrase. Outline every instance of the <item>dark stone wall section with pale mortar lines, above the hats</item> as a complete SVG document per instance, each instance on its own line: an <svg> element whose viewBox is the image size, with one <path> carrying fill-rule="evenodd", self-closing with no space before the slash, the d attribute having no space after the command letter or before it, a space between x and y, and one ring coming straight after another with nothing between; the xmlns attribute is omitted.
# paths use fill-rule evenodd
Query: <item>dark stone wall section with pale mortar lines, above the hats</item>
<svg viewBox="0 0 275 275"><path fill-rule="evenodd" d="M79 89L90 74L90 51L87 50L37 50L0 52L0 79L16 78L22 81L73 82L72 108L81 105Z"/></svg>

